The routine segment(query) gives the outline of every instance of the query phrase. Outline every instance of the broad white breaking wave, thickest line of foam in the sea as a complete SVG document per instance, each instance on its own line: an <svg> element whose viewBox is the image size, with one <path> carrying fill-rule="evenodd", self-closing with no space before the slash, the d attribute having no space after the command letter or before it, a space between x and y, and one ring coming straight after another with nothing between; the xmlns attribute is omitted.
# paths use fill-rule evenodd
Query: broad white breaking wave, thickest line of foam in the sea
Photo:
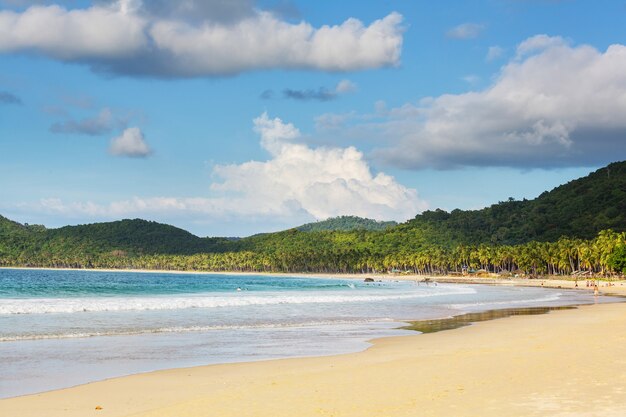
<svg viewBox="0 0 626 417"><path fill-rule="evenodd" d="M89 298L29 298L0 300L2 314L45 314L111 311L181 310L189 308L244 307L277 304L358 303L411 298L437 297L453 294L473 294L466 287L446 287L409 294L315 294L315 295L189 295L177 297L89 297Z"/></svg>

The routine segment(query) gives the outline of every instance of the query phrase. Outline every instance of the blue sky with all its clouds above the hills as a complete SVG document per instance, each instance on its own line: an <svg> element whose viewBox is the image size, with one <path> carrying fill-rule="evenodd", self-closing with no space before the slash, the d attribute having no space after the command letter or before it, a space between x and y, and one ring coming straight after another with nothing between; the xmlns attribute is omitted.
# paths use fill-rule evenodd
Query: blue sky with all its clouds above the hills
<svg viewBox="0 0 626 417"><path fill-rule="evenodd" d="M626 1L0 0L0 214L247 236L626 159Z"/></svg>

